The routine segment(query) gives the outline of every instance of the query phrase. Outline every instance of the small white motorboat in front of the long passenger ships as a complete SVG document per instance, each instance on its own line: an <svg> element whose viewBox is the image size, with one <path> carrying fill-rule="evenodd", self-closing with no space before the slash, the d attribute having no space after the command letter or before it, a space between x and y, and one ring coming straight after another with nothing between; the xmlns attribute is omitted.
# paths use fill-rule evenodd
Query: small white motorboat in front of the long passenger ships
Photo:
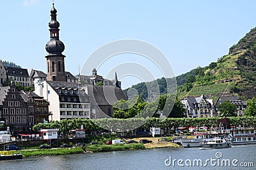
<svg viewBox="0 0 256 170"><path fill-rule="evenodd" d="M209 141L200 142L202 148L227 148L231 147L231 141L225 138L216 138Z"/></svg>

